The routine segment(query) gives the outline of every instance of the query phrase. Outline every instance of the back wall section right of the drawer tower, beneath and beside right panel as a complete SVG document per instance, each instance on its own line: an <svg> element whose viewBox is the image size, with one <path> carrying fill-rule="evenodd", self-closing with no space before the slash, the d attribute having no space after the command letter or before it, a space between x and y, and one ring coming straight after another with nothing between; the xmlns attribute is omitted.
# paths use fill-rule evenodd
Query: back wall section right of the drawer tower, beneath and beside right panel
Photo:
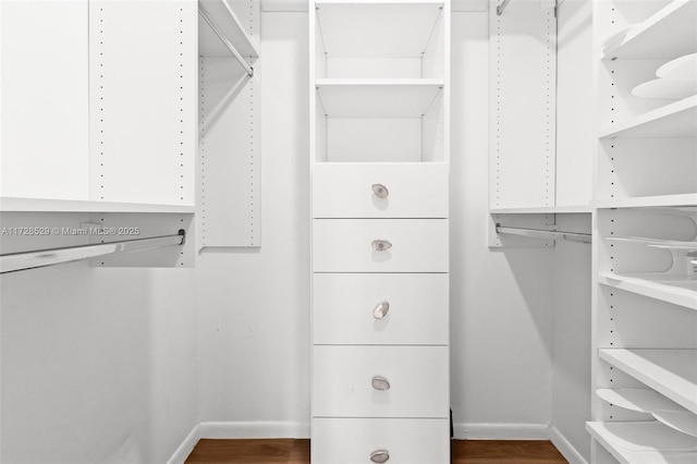
<svg viewBox="0 0 697 464"><path fill-rule="evenodd" d="M451 402L460 438L545 434L551 265L542 248L487 247L488 19L453 13Z"/></svg>

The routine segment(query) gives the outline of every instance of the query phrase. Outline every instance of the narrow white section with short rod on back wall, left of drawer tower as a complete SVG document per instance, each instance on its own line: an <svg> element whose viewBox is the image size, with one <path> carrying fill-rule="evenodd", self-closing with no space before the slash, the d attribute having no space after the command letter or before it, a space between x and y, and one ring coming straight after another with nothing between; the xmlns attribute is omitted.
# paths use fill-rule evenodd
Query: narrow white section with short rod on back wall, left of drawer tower
<svg viewBox="0 0 697 464"><path fill-rule="evenodd" d="M259 246L259 0L199 10L197 248Z"/></svg>

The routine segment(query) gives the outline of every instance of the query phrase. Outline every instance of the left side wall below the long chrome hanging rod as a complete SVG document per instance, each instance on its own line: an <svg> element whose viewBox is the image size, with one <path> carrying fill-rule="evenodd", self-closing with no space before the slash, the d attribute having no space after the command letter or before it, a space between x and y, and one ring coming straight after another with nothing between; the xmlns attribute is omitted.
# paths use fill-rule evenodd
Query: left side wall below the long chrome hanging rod
<svg viewBox="0 0 697 464"><path fill-rule="evenodd" d="M166 462L198 414L196 274L0 277L3 463Z"/></svg>

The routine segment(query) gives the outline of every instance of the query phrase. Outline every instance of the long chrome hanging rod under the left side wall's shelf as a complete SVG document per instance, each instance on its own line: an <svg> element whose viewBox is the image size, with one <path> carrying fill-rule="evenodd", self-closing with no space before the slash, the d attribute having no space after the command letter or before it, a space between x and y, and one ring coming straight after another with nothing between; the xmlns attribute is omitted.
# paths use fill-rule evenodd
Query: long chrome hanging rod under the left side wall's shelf
<svg viewBox="0 0 697 464"><path fill-rule="evenodd" d="M125 240L121 242L99 243L96 245L37 249L34 252L9 253L5 255L0 255L0 273L42 268L46 266L54 266L63 262L80 261L83 259L113 255L117 253L142 252L145 249L183 245L185 233L182 229L175 235Z"/></svg>

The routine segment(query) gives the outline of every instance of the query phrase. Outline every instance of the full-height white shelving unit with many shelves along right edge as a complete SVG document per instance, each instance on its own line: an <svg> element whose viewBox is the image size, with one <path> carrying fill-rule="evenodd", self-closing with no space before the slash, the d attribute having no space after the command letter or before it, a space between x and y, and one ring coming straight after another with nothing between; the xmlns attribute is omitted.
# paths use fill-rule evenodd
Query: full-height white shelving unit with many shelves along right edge
<svg viewBox="0 0 697 464"><path fill-rule="evenodd" d="M631 89L697 52L697 2L594 9L592 389L647 389L682 408L637 412L594 393L592 462L695 462L697 438L685 425L697 424L697 96Z"/></svg>

